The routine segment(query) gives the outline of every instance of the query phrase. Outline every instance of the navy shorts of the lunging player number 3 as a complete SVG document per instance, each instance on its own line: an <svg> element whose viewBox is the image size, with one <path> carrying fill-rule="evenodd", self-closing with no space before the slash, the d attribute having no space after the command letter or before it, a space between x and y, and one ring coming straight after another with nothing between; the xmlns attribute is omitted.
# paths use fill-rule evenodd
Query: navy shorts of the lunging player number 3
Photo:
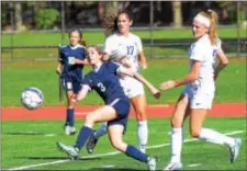
<svg viewBox="0 0 247 171"><path fill-rule="evenodd" d="M109 121L108 126L115 125L115 124L123 125L124 133L125 133L126 127L127 127L128 113L131 110L131 103L130 103L128 98L115 99L106 105L111 105L117 113L117 117L115 119Z"/></svg>

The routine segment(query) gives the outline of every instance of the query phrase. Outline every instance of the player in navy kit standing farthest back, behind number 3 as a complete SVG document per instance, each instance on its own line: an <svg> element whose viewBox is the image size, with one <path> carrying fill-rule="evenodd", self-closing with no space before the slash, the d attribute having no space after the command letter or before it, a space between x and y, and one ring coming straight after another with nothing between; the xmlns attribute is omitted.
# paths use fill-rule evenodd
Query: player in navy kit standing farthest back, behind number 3
<svg viewBox="0 0 247 171"><path fill-rule="evenodd" d="M59 64L56 70L60 76L67 98L67 114L64 126L66 135L74 135L76 133L74 126L75 103L70 101L70 99L76 96L80 91L83 65L88 64L86 59L86 47L82 46L85 42L82 42L81 38L82 34L79 30L74 30L69 33L70 44L60 47ZM74 65L76 59L79 59L81 62Z"/></svg>

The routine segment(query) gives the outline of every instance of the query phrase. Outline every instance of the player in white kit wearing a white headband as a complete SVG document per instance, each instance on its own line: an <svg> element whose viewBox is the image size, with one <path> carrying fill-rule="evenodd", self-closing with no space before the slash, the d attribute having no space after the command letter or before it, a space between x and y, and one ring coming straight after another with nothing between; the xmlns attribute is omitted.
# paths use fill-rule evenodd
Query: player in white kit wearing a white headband
<svg viewBox="0 0 247 171"><path fill-rule="evenodd" d="M216 26L217 13L212 10L200 12L193 19L192 32L198 41L191 45L189 50L189 73L183 79L169 80L159 86L161 90L168 90L186 84L171 117L171 160L164 170L180 170L182 168L182 125L188 115L190 115L192 137L226 145L231 152L232 163L238 156L240 138L232 138L211 128L202 127L203 121L212 107L215 79L228 64L228 59L221 48Z"/></svg>

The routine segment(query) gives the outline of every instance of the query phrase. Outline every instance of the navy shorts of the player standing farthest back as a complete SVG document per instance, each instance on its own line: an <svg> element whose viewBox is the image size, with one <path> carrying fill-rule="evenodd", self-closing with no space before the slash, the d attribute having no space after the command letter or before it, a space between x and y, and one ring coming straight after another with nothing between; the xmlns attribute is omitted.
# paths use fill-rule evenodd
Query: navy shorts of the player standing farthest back
<svg viewBox="0 0 247 171"><path fill-rule="evenodd" d="M72 91L77 94L81 90L81 82L78 82L77 80L74 80L69 77L61 77L60 80L66 92Z"/></svg>

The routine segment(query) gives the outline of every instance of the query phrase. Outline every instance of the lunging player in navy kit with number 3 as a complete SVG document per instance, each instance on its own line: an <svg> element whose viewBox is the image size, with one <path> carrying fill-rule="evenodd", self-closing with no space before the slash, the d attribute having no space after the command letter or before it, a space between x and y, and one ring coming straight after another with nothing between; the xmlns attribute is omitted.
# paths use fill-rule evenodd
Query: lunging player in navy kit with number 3
<svg viewBox="0 0 247 171"><path fill-rule="evenodd" d="M72 101L83 99L91 90L96 90L103 99L105 105L87 114L85 125L82 126L75 146L67 146L57 142L58 148L66 152L70 158L78 158L80 149L85 146L92 134L94 123L108 122L108 132L112 146L138 161L146 162L149 170L156 169L157 158L148 157L132 145L123 141L122 135L127 125L130 113L130 100L124 94L123 88L120 84L121 76L133 77L143 82L155 98L159 98L159 91L144 79L139 73L124 68L114 62L102 62L102 50L97 46L88 47L88 58L93 70L90 71L83 79L82 89Z"/></svg>

